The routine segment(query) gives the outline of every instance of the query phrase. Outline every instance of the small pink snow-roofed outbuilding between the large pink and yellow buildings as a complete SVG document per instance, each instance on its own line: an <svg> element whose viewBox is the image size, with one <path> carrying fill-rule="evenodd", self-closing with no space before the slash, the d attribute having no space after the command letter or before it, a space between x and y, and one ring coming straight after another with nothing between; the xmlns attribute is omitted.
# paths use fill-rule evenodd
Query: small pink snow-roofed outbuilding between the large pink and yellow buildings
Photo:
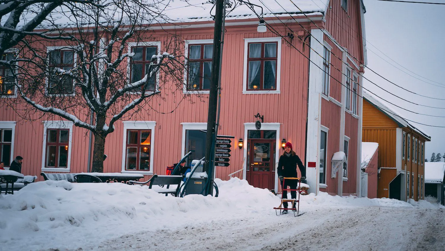
<svg viewBox="0 0 445 251"><path fill-rule="evenodd" d="M379 143L361 143L362 197L377 198Z"/></svg>

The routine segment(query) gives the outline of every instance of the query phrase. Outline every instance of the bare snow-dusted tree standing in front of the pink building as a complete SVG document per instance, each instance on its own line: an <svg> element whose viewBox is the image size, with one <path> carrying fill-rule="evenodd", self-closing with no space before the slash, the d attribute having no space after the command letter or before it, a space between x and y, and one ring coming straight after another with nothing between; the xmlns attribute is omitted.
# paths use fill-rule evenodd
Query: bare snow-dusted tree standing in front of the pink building
<svg viewBox="0 0 445 251"><path fill-rule="evenodd" d="M178 103L185 98L178 91L184 70L180 37L167 35L163 51L151 47L129 51L132 45L159 39L150 28L160 20L168 21L161 2L64 4L63 12L53 16L51 29L70 39L54 41L62 46L50 50L45 36L24 37L16 46L20 51L8 61L19 62L13 70L20 98L14 101L16 111L28 119L36 110L60 116L91 131L93 172L103 171L105 139L119 119L137 115L154 98L161 102L172 95L169 100ZM133 63L140 61L145 64ZM20 102L24 104L19 106Z"/></svg>

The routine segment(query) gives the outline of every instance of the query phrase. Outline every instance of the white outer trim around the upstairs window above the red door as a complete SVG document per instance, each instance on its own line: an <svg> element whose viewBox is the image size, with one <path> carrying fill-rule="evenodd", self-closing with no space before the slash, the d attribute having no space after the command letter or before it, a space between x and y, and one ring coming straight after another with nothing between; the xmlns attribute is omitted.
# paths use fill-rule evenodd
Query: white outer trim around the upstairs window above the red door
<svg viewBox="0 0 445 251"><path fill-rule="evenodd" d="M247 51L248 44L254 42L277 42L277 84L276 90L266 91L266 93L280 93L280 79L281 79L281 37L259 37L259 38L244 38L244 60L243 60L243 94L258 93L264 94L261 91L247 91Z"/></svg>

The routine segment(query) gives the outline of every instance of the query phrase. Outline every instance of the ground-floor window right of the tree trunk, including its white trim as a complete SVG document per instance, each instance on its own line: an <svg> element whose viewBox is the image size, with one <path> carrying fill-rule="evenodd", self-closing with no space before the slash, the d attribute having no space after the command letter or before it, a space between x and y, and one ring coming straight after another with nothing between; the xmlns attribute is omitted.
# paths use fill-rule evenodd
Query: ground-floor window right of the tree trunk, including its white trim
<svg viewBox="0 0 445 251"><path fill-rule="evenodd" d="M153 174L156 121L124 121L121 173Z"/></svg>

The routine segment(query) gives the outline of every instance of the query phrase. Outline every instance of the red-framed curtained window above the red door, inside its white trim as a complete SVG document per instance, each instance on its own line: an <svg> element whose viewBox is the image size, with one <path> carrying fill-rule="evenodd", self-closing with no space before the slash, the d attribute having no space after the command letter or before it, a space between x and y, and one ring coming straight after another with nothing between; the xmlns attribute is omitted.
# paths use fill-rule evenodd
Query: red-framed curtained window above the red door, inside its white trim
<svg viewBox="0 0 445 251"><path fill-rule="evenodd" d="M249 43L247 91L276 90L277 42Z"/></svg>

